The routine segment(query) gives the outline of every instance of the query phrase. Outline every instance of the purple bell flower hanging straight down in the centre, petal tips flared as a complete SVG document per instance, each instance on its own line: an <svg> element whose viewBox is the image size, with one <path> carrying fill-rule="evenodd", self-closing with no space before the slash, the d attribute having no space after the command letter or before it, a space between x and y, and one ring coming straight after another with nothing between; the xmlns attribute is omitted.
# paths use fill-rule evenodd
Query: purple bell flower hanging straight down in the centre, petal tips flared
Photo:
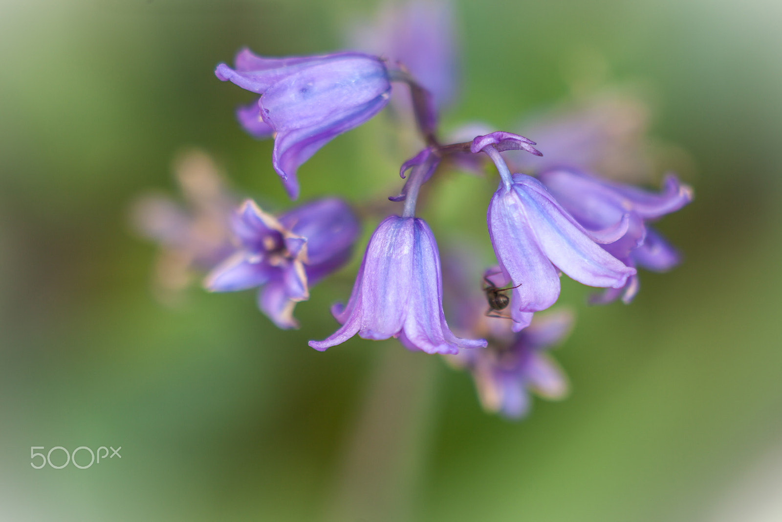
<svg viewBox="0 0 782 522"><path fill-rule="evenodd" d="M443 315L443 282L437 243L420 218L389 216L369 239L346 306L332 308L343 326L325 340L324 351L358 334L364 339L398 337L410 350L456 354L485 347L486 340L459 339Z"/></svg>

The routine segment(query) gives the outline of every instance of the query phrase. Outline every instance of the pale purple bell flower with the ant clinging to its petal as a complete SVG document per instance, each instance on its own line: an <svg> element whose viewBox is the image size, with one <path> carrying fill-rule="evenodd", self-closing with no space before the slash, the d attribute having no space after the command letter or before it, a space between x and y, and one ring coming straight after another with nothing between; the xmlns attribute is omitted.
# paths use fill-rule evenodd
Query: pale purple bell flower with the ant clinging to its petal
<svg viewBox="0 0 782 522"><path fill-rule="evenodd" d="M557 301L559 271L588 286L612 288L622 288L636 273L596 243L624 236L626 216L611 229L588 232L541 182L523 174L511 179L500 182L487 221L500 268L516 286L511 299L515 331L529 326L529 312Z"/></svg>

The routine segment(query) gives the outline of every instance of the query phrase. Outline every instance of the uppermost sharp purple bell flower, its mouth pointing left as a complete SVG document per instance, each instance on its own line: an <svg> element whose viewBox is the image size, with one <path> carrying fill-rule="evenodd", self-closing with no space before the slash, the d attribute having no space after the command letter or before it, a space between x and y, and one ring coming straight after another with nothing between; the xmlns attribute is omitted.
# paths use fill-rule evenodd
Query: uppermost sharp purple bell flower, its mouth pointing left
<svg viewBox="0 0 782 522"><path fill-rule="evenodd" d="M274 131L271 163L292 199L299 196L300 165L336 135L375 116L391 91L382 60L359 52L264 58L242 49L234 69L220 63L214 74L261 95L258 116ZM265 134L264 126L253 124L252 107L237 116L251 135Z"/></svg>

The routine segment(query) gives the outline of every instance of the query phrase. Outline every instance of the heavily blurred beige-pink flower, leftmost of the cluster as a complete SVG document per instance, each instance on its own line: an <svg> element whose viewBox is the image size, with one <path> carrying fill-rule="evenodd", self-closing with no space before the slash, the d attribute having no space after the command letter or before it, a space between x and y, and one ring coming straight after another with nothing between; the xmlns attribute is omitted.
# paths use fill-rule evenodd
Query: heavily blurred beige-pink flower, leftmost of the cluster
<svg viewBox="0 0 782 522"><path fill-rule="evenodd" d="M160 243L155 290L163 301L176 301L198 272L206 272L231 252L231 213L235 197L224 187L213 160L199 150L174 162L185 206L168 196L149 194L131 208L139 234Z"/></svg>

